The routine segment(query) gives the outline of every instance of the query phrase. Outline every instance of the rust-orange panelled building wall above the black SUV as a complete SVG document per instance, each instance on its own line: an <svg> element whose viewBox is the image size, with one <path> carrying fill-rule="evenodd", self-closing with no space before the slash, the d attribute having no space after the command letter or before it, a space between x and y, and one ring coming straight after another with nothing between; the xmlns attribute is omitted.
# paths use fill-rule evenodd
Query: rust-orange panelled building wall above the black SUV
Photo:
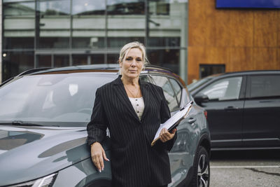
<svg viewBox="0 0 280 187"><path fill-rule="evenodd" d="M225 72L280 69L280 11L190 0L188 83L199 78L200 64L225 64Z"/></svg>

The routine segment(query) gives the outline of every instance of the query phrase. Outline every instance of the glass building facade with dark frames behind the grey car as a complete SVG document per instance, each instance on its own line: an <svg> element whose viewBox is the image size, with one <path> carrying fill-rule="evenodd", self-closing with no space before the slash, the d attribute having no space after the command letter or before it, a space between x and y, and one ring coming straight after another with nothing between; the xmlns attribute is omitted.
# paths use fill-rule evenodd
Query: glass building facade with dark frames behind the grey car
<svg viewBox="0 0 280 187"><path fill-rule="evenodd" d="M140 41L186 79L188 0L3 0L2 81L27 69L117 63Z"/></svg>

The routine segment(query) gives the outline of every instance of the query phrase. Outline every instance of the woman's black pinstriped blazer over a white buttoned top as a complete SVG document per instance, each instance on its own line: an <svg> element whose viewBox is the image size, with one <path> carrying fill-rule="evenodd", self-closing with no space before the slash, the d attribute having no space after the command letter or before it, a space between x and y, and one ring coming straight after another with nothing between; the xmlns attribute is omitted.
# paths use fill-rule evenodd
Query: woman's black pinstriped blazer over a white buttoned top
<svg viewBox="0 0 280 187"><path fill-rule="evenodd" d="M162 88L139 81L144 113L139 120L127 97L121 76L97 89L87 142L102 142L109 127L113 186L162 186L171 182L169 157L176 136L151 147L155 133L170 118Z"/></svg>

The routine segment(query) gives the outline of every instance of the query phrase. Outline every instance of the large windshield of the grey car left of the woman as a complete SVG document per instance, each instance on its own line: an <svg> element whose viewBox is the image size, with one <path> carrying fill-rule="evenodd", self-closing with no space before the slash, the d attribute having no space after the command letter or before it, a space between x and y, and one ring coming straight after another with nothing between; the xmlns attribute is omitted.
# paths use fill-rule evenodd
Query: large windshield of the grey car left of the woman
<svg viewBox="0 0 280 187"><path fill-rule="evenodd" d="M97 88L116 77L108 73L23 76L0 88L0 123L86 126Z"/></svg>

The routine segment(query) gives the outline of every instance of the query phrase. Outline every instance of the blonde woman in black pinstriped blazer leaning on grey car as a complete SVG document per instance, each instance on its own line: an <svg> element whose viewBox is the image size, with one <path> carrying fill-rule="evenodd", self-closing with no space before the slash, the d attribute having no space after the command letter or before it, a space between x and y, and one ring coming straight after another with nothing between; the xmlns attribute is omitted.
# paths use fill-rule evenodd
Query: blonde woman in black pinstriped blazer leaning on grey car
<svg viewBox="0 0 280 187"><path fill-rule="evenodd" d="M151 142L160 123L170 118L162 88L139 80L146 51L139 42L120 50L120 76L97 89L92 118L87 125L87 142L92 162L102 172L106 158L102 141L109 128L113 186L167 186L171 182L169 157L176 130L160 132L160 141Z"/></svg>

